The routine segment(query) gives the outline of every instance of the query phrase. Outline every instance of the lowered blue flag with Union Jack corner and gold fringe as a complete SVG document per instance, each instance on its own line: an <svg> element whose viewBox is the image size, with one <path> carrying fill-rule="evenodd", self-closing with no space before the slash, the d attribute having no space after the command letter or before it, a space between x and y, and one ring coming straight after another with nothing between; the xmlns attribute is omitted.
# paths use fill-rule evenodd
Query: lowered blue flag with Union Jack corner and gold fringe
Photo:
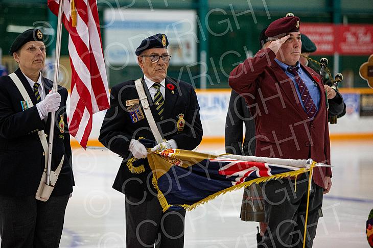
<svg viewBox="0 0 373 248"><path fill-rule="evenodd" d="M156 151L148 155L148 161L164 211L171 206L192 210L228 191L324 166L311 159L216 156L180 149Z"/></svg>

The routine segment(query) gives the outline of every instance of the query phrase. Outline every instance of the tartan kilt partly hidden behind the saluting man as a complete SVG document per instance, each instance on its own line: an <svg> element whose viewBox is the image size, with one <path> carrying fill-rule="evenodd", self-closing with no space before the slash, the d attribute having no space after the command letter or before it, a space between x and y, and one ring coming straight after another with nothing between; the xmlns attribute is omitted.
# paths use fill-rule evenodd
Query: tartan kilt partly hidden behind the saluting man
<svg viewBox="0 0 373 248"><path fill-rule="evenodd" d="M243 221L266 222L262 184L244 188L240 217Z"/></svg>

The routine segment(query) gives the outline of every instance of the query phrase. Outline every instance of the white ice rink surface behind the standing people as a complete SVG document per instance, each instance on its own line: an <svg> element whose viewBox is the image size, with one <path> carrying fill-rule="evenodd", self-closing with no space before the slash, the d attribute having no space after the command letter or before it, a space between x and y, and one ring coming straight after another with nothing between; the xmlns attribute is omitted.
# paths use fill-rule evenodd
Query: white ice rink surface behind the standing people
<svg viewBox="0 0 373 248"><path fill-rule="evenodd" d="M314 247L369 247L365 221L373 207L373 141L333 141L333 186L324 196ZM224 152L223 145L199 151ZM111 188L121 158L109 151L73 151L76 186L60 247L125 247L124 195ZM243 190L219 196L185 218L191 248L256 247L257 223L239 218Z"/></svg>

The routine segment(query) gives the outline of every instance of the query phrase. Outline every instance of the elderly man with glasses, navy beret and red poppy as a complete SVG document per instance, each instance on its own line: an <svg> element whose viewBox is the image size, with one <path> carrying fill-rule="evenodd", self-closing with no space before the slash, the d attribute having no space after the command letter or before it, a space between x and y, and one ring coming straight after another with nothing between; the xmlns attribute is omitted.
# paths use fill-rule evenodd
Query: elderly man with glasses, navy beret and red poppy
<svg viewBox="0 0 373 248"><path fill-rule="evenodd" d="M185 210L162 212L146 158L151 147L141 140L156 140L154 126L149 124L152 118L163 138L163 142L154 142L152 151L192 150L202 139L196 92L191 84L167 77L171 58L167 46L167 36L156 34L137 47L144 75L112 87L111 107L100 130L100 142L123 157L113 188L126 195L126 242L131 248L154 244L177 248L184 243ZM151 113L146 112L146 105Z"/></svg>

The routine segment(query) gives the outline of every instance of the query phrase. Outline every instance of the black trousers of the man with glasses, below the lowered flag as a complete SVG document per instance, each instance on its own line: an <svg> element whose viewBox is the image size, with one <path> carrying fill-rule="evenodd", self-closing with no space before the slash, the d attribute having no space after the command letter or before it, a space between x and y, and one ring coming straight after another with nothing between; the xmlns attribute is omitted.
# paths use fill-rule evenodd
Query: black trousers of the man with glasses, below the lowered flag
<svg viewBox="0 0 373 248"><path fill-rule="evenodd" d="M163 213L157 197L146 201L126 195L127 247L183 247L184 218L184 209Z"/></svg>

